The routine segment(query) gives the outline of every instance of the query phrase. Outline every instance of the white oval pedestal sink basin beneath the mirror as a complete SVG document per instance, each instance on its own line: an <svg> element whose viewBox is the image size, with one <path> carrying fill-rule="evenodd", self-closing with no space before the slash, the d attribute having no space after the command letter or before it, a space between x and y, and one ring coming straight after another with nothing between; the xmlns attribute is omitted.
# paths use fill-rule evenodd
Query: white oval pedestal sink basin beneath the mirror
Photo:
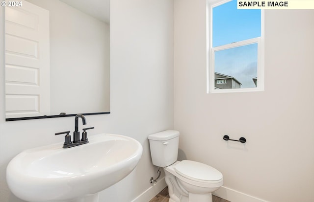
<svg viewBox="0 0 314 202"><path fill-rule="evenodd" d="M21 152L7 166L11 191L27 202L98 202L98 193L137 165L142 145L123 135L98 134L89 143L63 143Z"/></svg>

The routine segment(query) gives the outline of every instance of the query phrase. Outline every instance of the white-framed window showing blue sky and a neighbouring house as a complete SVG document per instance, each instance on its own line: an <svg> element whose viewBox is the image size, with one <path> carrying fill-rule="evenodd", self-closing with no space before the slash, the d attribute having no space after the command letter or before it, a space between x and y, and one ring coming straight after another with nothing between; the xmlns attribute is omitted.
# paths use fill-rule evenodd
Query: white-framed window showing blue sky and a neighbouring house
<svg viewBox="0 0 314 202"><path fill-rule="evenodd" d="M210 93L263 90L263 11L237 9L236 3L208 7ZM217 88L217 78L233 83Z"/></svg>

